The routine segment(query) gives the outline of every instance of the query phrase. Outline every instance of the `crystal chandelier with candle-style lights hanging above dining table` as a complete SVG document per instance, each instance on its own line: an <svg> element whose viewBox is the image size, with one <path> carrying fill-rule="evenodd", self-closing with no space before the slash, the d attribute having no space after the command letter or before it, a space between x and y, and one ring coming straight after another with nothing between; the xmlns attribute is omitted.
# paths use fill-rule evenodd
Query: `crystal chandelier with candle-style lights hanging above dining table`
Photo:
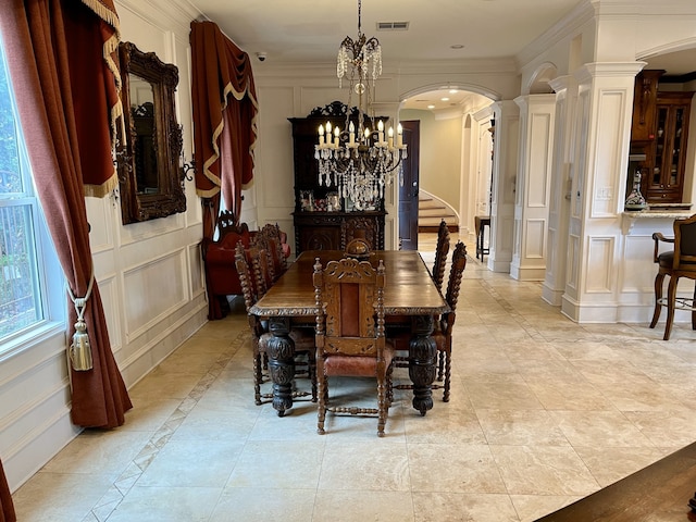
<svg viewBox="0 0 696 522"><path fill-rule="evenodd" d="M401 169L407 158L403 130L397 127L386 132L384 122L375 125L375 80L382 74L382 48L375 37L362 34L362 1L358 0L358 38L344 38L338 49L336 75L338 86L347 77L348 110L344 128L332 129L331 123L319 127L319 144L314 157L319 161L319 185L336 187L338 195L350 199L356 210L374 210L384 204L384 187L390 185L394 172ZM358 97L357 111L351 110L352 95ZM357 113L356 121L351 114Z"/></svg>

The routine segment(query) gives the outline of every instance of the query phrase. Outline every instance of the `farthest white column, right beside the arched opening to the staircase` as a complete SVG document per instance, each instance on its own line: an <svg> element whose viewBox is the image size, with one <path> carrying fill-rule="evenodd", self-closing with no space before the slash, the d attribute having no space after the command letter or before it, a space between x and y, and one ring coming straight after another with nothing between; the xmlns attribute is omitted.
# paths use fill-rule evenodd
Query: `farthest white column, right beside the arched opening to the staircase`
<svg viewBox="0 0 696 522"><path fill-rule="evenodd" d="M512 100L493 104L496 135L493 151L493 203L490 206L490 253L488 270L510 272L514 229L514 179L517 176L520 116Z"/></svg>

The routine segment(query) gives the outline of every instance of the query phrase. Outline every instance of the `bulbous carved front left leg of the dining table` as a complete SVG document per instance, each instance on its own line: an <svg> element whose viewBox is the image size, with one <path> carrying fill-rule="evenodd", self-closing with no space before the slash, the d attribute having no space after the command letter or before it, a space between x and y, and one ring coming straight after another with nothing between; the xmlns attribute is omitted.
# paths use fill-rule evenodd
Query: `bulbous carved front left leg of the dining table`
<svg viewBox="0 0 696 522"><path fill-rule="evenodd" d="M295 378L295 343L290 338L289 318L271 318L269 331L269 374L273 381L273 408L278 417L293 408L293 380Z"/></svg>

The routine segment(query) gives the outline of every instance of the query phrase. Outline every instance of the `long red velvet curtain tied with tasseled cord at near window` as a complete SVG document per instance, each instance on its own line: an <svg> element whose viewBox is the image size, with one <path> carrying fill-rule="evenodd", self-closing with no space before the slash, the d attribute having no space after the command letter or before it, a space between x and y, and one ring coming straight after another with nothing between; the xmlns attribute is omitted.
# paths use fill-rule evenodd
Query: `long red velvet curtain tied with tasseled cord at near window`
<svg viewBox="0 0 696 522"><path fill-rule="evenodd" d="M5 3L0 29L38 197L67 284L75 297L85 297L94 270L85 194L105 190L113 177L110 129L120 103L112 52L119 20L112 0ZM70 343L77 313L70 299L67 307ZM96 282L84 318L94 368L70 370L71 418L80 426L115 427L133 405Z"/></svg>

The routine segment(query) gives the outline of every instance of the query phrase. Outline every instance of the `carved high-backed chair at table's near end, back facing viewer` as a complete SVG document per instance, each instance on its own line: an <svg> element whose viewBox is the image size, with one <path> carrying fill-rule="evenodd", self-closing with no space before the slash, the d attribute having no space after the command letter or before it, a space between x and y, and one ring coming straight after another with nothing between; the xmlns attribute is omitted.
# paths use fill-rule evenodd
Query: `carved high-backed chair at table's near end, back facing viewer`
<svg viewBox="0 0 696 522"><path fill-rule="evenodd" d="M344 258L326 269L316 258L316 373L319 408L316 432L324 434L326 412L377 415L377 435L384 436L391 402L394 348L384 336L384 262L374 269L368 261ZM377 408L330 406L330 376L375 377Z"/></svg>

